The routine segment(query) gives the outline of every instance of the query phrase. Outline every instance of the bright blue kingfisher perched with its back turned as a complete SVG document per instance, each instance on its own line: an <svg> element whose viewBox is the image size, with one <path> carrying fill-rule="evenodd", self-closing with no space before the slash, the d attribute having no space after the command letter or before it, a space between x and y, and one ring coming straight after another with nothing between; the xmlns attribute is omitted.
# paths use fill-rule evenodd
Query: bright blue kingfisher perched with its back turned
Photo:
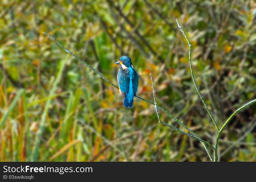
<svg viewBox="0 0 256 182"><path fill-rule="evenodd" d="M136 96L138 89L139 76L131 64L131 58L128 56L120 57L115 64L120 65L117 73L119 92L125 97L124 106L131 108L133 105L133 97Z"/></svg>

